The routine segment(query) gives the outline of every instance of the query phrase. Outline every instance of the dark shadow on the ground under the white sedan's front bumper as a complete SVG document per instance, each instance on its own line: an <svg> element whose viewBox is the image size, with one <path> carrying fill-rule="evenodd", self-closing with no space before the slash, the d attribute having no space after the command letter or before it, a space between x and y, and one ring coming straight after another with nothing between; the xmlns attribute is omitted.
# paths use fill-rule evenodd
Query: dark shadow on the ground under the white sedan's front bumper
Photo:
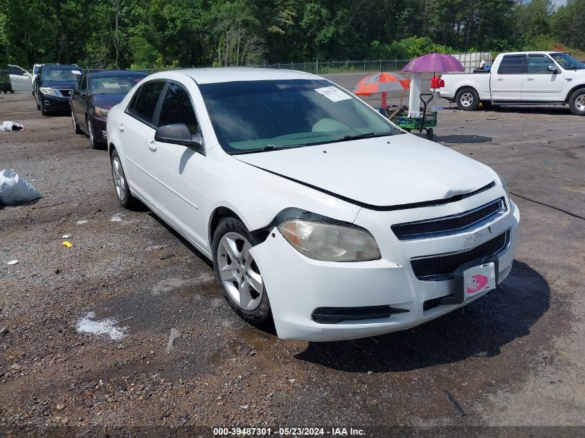
<svg viewBox="0 0 585 438"><path fill-rule="evenodd" d="M550 306L550 287L530 266L514 262L496 291L462 309L406 331L333 343L309 343L296 358L345 372L399 372L492 357L530 334Z"/></svg>

